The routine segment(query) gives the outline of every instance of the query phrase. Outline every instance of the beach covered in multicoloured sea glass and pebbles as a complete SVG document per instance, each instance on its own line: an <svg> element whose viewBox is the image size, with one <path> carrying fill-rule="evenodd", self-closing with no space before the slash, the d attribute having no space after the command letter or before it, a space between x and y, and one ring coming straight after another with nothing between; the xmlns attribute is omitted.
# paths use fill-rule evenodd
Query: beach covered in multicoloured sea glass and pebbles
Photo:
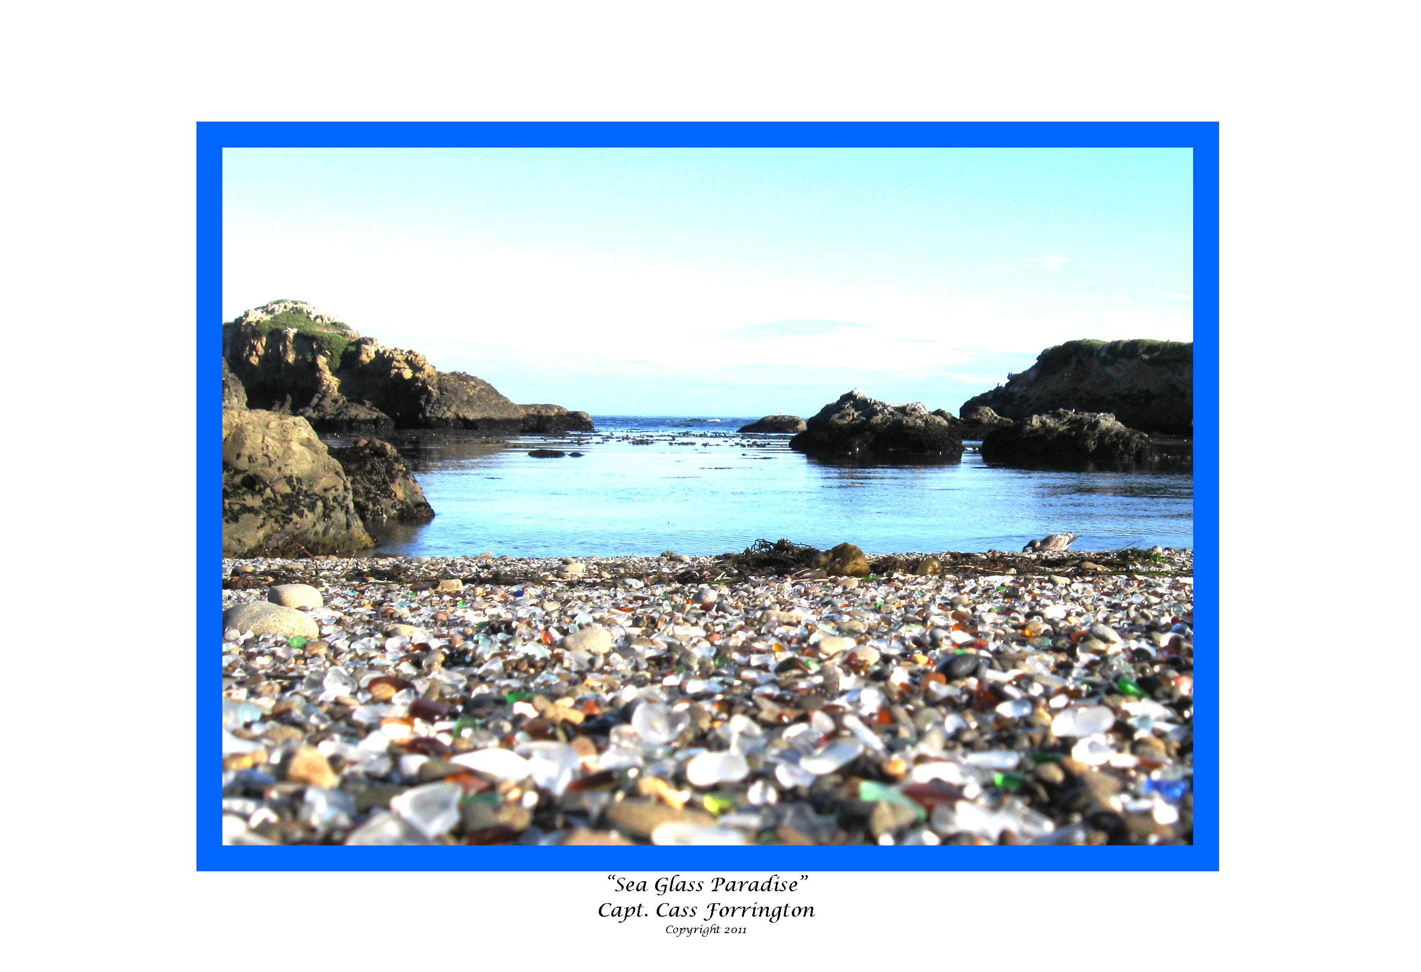
<svg viewBox="0 0 1421 972"><path fill-rule="evenodd" d="M1192 550L747 556L225 558L225 840L1189 843Z"/></svg>

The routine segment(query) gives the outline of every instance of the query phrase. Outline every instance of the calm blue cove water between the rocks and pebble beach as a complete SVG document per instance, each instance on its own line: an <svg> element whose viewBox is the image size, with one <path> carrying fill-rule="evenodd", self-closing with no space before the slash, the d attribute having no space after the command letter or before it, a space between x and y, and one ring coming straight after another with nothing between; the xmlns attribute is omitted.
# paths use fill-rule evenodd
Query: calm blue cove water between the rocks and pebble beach
<svg viewBox="0 0 1421 972"><path fill-rule="evenodd" d="M961 465L831 466L790 452L789 436L736 432L755 418L594 416L597 432L506 446L395 436L436 516L372 531L375 553L718 554L762 537L871 554L1020 550L1063 530L1083 534L1081 550L1194 546L1189 472L1002 469L975 443ZM585 455L526 455L540 446Z"/></svg>

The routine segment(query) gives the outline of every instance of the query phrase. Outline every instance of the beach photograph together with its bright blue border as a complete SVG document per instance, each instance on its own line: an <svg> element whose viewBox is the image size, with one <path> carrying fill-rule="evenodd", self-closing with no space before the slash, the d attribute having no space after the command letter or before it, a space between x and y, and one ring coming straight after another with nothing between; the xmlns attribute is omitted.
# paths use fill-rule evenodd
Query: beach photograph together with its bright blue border
<svg viewBox="0 0 1421 972"><path fill-rule="evenodd" d="M199 871L1219 868L1216 122L196 136Z"/></svg>

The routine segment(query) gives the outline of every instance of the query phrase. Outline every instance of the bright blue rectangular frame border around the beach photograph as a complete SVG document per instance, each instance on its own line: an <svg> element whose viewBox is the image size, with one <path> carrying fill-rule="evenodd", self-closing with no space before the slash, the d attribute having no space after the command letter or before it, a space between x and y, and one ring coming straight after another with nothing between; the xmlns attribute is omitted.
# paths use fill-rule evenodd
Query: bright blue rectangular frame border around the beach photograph
<svg viewBox="0 0 1421 972"><path fill-rule="evenodd" d="M223 847L216 732L222 621L225 148L1191 148L1194 149L1194 844L1188 847ZM1216 871L1219 868L1218 122L198 122L199 871Z"/></svg>

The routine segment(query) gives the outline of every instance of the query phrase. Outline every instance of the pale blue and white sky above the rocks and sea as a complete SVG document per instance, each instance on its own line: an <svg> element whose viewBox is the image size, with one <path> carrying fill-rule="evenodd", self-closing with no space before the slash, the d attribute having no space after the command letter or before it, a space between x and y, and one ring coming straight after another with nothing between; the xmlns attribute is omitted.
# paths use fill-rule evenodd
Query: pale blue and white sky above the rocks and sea
<svg viewBox="0 0 1421 972"><path fill-rule="evenodd" d="M953 414L1192 340L1189 149L226 149L223 320L304 300L517 402Z"/></svg>

